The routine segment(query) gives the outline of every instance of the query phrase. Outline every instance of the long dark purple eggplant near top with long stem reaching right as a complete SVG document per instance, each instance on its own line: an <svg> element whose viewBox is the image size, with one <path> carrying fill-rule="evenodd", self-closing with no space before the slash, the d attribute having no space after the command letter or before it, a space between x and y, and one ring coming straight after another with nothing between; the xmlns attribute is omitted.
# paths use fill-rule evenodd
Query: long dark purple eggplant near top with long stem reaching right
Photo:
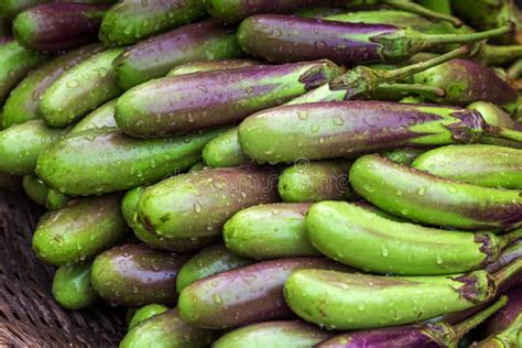
<svg viewBox="0 0 522 348"><path fill-rule="evenodd" d="M238 30L241 47L278 63L328 58L338 64L403 61L446 44L472 43L511 32L514 24L469 34L424 34L396 25L336 22L259 14Z"/></svg>

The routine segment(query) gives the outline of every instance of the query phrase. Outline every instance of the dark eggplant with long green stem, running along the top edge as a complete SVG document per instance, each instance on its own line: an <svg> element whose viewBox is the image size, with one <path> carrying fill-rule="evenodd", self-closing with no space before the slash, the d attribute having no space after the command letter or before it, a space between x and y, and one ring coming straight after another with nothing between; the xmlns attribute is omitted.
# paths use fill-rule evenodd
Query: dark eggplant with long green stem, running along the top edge
<svg viewBox="0 0 522 348"><path fill-rule="evenodd" d="M396 0L205 0L205 7L214 18L229 23L237 23L241 20L259 13L289 13L293 10L305 7L346 7L350 4L374 6L385 4L392 8L402 9L417 13L431 19L448 21L455 25L461 25L461 21L454 17L431 11L422 6L409 1Z"/></svg>

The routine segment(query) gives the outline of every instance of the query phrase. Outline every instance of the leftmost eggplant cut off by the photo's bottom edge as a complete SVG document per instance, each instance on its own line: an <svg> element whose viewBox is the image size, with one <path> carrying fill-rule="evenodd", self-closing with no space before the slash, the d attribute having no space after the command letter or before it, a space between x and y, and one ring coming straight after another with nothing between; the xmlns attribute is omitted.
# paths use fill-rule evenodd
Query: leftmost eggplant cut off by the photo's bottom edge
<svg viewBox="0 0 522 348"><path fill-rule="evenodd" d="M183 320L177 309L155 315L131 329L120 348L206 348L218 336Z"/></svg>

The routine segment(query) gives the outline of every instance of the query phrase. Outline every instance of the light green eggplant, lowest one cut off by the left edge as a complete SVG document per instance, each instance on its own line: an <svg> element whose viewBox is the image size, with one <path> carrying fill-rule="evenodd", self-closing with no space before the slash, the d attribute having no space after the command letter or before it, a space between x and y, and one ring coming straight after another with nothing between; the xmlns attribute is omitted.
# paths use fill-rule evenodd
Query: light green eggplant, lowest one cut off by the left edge
<svg viewBox="0 0 522 348"><path fill-rule="evenodd" d="M66 129L50 128L42 120L0 131L0 171L13 175L34 173L39 155L66 132Z"/></svg>

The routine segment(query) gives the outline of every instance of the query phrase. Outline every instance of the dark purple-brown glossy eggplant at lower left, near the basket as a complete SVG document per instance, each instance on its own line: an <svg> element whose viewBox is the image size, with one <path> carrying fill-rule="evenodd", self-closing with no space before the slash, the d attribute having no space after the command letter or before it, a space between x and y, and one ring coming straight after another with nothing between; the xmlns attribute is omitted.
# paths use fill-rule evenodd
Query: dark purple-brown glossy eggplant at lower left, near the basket
<svg viewBox="0 0 522 348"><path fill-rule="evenodd" d="M119 246L96 257L90 283L112 305L175 304L176 276L186 260L143 244Z"/></svg>

